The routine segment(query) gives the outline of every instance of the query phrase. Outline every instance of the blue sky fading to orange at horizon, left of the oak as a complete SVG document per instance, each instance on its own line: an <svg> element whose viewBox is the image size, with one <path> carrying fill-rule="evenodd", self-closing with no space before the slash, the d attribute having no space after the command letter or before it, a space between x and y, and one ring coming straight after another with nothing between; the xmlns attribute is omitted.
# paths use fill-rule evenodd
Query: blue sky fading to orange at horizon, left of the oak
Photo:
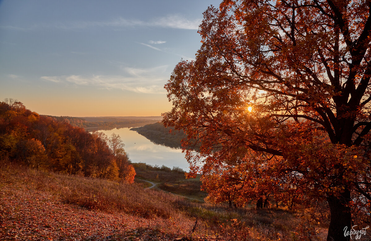
<svg viewBox="0 0 371 241"><path fill-rule="evenodd" d="M0 101L53 116L160 116L221 0L0 0Z"/></svg>

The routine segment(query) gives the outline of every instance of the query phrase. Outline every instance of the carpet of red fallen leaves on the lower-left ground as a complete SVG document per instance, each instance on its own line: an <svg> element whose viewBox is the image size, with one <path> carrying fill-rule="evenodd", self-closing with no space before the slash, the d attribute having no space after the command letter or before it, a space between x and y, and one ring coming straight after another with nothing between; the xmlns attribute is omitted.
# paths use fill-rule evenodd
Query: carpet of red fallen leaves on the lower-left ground
<svg viewBox="0 0 371 241"><path fill-rule="evenodd" d="M63 204L35 190L3 187L0 193L0 240L174 240L164 220L124 213L108 214ZM150 224L150 225L149 225Z"/></svg>

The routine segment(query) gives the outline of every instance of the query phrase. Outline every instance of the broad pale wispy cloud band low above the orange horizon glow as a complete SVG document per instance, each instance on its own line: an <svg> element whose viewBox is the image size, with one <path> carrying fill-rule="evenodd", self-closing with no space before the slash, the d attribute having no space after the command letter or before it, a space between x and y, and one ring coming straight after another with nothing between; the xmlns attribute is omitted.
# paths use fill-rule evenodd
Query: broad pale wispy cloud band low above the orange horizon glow
<svg viewBox="0 0 371 241"><path fill-rule="evenodd" d="M163 76L165 76L166 68L167 66L149 69L123 68L127 76L68 75L43 76L41 79L74 86L95 86L107 90L121 89L135 93L164 94L163 86L167 78Z"/></svg>

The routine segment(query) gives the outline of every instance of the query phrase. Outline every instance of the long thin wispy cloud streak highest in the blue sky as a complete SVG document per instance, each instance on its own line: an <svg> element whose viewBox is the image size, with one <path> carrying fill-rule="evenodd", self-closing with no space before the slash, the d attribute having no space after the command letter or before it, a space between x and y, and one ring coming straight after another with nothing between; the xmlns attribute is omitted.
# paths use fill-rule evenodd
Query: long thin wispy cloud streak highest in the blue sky
<svg viewBox="0 0 371 241"><path fill-rule="evenodd" d="M118 17L108 21L70 21L70 22L55 22L33 24L29 27L18 26L0 26L3 29L13 29L20 31L28 31L33 29L57 28L64 30L78 30L92 27L162 27L172 29L193 29L197 30L202 19L187 19L178 14L167 15L151 19L150 21L142 21L137 19L125 19Z"/></svg>

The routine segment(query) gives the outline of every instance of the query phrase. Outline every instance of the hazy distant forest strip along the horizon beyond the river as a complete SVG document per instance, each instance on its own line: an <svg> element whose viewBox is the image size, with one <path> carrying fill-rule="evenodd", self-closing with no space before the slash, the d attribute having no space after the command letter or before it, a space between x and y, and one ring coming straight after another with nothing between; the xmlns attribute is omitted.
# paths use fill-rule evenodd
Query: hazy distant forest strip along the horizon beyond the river
<svg viewBox="0 0 371 241"><path fill-rule="evenodd" d="M58 121L65 121L66 123L85 129L104 129L111 130L116 127L137 127L145 124L155 123L161 121L161 116L148 117L69 117L69 116L49 116ZM91 130L88 130L91 131Z"/></svg>

